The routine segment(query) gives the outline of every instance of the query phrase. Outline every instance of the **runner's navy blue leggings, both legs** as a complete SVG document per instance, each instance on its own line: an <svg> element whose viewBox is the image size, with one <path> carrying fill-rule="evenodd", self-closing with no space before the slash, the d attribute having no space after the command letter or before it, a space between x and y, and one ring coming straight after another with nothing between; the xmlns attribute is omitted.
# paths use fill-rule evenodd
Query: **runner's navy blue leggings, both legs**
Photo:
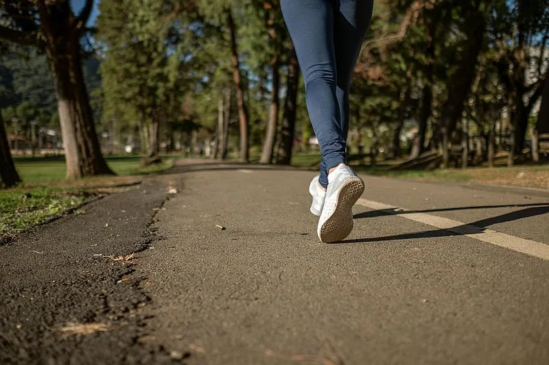
<svg viewBox="0 0 549 365"><path fill-rule="evenodd" d="M281 0L305 80L311 123L320 144L320 185L346 161L349 86L373 0Z"/></svg>

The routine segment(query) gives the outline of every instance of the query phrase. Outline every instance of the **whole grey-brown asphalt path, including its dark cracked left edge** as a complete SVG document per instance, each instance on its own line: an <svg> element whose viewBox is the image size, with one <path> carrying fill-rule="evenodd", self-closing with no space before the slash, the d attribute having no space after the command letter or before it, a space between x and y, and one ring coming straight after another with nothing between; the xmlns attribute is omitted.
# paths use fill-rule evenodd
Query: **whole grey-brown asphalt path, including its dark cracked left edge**
<svg viewBox="0 0 549 365"><path fill-rule="evenodd" d="M320 244L313 176L182 162L0 247L0 363L549 364L548 260L364 205ZM549 244L549 192L363 198Z"/></svg>

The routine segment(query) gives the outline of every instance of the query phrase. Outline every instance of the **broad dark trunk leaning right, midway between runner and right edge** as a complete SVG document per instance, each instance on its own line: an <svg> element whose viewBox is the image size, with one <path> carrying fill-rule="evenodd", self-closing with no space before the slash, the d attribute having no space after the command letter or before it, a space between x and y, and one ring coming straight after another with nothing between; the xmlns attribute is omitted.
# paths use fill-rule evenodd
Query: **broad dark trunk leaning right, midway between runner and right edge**
<svg viewBox="0 0 549 365"><path fill-rule="evenodd" d="M451 92L449 92L441 116L443 167L448 167L449 163L449 153L447 151L449 136L452 134L452 131L456 129L456 123L461 118L467 95L469 95L471 85L473 84L476 75L477 58L480 49L482 49L484 29L486 28L486 20L484 19L484 14L482 14L480 10L476 10L476 14L471 16L470 25L474 25L474 27L467 32L467 44L463 50L460 66L449 79L448 85L450 86Z"/></svg>

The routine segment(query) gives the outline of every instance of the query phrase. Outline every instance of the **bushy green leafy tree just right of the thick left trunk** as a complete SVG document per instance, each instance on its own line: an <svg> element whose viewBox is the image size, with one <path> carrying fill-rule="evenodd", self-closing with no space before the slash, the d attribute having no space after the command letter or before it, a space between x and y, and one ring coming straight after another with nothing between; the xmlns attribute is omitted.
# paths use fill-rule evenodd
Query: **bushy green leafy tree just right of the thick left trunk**
<svg viewBox="0 0 549 365"><path fill-rule="evenodd" d="M161 129L175 131L189 116L182 105L187 68L195 59L187 49L197 32L189 19L191 7L167 0L100 3L97 36L106 46L104 118L106 123L139 125L145 162L159 154Z"/></svg>

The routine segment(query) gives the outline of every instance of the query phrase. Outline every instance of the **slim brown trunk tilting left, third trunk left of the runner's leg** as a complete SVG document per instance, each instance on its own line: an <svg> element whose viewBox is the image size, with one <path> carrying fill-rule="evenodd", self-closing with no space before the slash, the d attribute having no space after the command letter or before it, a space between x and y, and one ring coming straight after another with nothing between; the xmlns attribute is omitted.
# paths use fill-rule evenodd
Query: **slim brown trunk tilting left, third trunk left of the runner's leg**
<svg viewBox="0 0 549 365"><path fill-rule="evenodd" d="M240 121L240 158L242 162L248 163L249 155L249 134L250 126L248 123L248 110L244 101L244 84L240 75L240 61L238 60L238 45L236 40L236 27L233 20L231 8L226 10L227 24L229 25L229 33L231 35L231 61L233 63L233 79L236 86L236 99L238 105L238 118Z"/></svg>

